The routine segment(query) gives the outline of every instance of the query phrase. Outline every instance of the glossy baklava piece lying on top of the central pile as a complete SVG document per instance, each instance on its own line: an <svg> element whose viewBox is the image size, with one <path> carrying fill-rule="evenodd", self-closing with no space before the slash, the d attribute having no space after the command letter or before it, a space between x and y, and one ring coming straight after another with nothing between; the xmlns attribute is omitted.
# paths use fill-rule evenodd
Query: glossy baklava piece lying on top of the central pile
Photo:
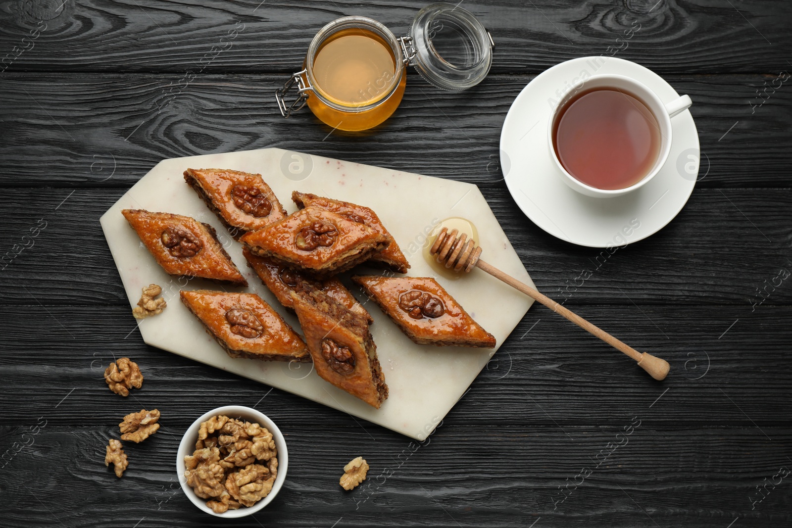
<svg viewBox="0 0 792 528"><path fill-rule="evenodd" d="M242 236L250 253L322 279L368 260L388 238L359 222L306 207L279 222Z"/></svg>

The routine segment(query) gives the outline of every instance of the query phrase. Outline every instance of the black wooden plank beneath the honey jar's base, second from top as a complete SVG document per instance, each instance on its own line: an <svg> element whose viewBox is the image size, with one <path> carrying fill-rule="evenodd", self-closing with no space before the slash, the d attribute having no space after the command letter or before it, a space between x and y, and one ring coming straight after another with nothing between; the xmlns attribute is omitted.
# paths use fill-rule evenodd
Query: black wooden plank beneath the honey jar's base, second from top
<svg viewBox="0 0 792 528"><path fill-rule="evenodd" d="M415 82L382 126L344 133L307 109L284 120L273 75L201 75L180 91L177 75L7 72L0 185L126 188L163 158L279 146L505 189L501 126L531 78L491 75L467 93ZM772 93L780 81L761 75L668 81L695 101L700 188L788 187L792 88ZM752 108L763 87L771 95Z"/></svg>

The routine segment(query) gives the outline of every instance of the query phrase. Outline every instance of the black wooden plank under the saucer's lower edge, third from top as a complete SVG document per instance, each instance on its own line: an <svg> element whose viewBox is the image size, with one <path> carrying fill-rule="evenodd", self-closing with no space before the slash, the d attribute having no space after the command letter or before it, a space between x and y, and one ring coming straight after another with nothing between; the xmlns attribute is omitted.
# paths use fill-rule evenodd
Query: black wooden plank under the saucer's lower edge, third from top
<svg viewBox="0 0 792 528"><path fill-rule="evenodd" d="M789 189L695 191L670 225L612 253L560 241L525 218L503 189L484 191L539 290L565 306L733 304L750 311L753 303L792 299L792 289L779 277L782 268L792 272ZM98 222L123 192L6 188L0 203L0 248L7 264L0 302L126 304ZM30 237L37 226L44 230Z"/></svg>

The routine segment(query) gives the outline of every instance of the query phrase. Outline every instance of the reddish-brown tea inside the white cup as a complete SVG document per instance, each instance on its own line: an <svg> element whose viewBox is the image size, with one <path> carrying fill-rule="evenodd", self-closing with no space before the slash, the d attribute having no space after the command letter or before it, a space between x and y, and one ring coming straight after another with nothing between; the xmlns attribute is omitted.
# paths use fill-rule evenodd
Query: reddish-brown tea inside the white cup
<svg viewBox="0 0 792 528"><path fill-rule="evenodd" d="M553 148L576 180L616 190L637 184L657 163L657 117L638 97L607 86L583 90L556 112Z"/></svg>

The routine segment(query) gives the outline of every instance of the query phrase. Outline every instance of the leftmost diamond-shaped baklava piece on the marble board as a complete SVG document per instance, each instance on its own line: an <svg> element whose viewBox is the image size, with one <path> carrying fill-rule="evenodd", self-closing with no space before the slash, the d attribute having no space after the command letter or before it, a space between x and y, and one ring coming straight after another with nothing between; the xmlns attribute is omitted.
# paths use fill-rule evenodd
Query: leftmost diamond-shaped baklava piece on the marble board
<svg viewBox="0 0 792 528"><path fill-rule="evenodd" d="M152 213L143 209L121 211L157 264L169 275L223 280L247 286L215 229L188 216Z"/></svg>

